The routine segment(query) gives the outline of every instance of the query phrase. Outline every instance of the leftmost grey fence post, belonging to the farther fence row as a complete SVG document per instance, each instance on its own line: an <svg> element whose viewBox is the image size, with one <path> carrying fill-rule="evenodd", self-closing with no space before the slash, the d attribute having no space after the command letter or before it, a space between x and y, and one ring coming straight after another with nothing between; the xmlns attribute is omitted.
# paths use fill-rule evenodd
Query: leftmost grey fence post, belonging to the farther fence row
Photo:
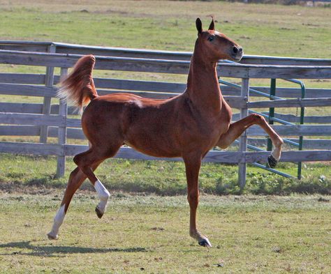
<svg viewBox="0 0 331 274"><path fill-rule="evenodd" d="M49 45L47 52L54 53L56 51L55 45ZM54 84L54 67L47 67L46 68L46 75L45 75L45 86L53 86ZM52 97L44 97L43 102L43 114L50 114L50 104L52 102ZM41 126L41 135L39 138L39 142L47 143L47 132L48 127L47 125Z"/></svg>

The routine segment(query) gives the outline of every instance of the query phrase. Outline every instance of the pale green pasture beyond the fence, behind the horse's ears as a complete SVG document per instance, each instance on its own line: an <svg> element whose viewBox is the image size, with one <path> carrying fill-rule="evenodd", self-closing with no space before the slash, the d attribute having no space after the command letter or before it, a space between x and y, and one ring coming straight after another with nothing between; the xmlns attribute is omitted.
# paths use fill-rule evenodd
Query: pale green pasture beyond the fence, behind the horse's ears
<svg viewBox="0 0 331 274"><path fill-rule="evenodd" d="M329 8L202 1L1 2L3 39L192 50L194 20L202 17L207 27L212 13L218 29L239 41L247 54L331 57L331 23L324 20Z"/></svg>

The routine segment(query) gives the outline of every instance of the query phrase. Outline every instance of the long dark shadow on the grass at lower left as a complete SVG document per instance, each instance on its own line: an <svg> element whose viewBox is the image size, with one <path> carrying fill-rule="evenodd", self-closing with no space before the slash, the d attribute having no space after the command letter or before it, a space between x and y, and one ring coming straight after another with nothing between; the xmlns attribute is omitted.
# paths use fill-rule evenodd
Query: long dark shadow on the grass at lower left
<svg viewBox="0 0 331 274"><path fill-rule="evenodd" d="M75 246L32 245L31 241L12 242L1 244L0 248L22 248L31 252L0 253L2 256L29 255L41 257L63 257L64 254L108 253L108 252L148 252L146 248L82 248Z"/></svg>

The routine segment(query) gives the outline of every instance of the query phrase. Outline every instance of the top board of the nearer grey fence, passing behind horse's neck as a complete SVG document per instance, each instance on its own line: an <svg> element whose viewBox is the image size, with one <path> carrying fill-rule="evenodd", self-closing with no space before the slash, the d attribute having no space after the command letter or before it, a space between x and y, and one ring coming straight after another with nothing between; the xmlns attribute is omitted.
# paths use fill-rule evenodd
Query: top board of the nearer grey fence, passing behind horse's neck
<svg viewBox="0 0 331 274"><path fill-rule="evenodd" d="M70 68L78 55L0 50L0 63ZM189 61L96 56L96 69L187 74ZM236 78L329 79L331 66L267 66L221 63L217 73Z"/></svg>

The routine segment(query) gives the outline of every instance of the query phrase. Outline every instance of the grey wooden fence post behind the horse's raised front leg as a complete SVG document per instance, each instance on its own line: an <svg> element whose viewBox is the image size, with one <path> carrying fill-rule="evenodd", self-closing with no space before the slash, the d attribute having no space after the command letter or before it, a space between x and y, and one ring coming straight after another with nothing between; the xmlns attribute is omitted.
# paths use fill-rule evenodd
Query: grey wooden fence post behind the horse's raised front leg
<svg viewBox="0 0 331 274"><path fill-rule="evenodd" d="M245 98L245 100L248 102L248 100L249 100L249 78L242 79L241 96L243 98ZM240 119L243 119L247 115L248 115L248 108L242 107L240 109ZM240 152L247 151L247 132L246 132L246 130L244 131L244 133L242 133L242 136L240 137L239 150L240 150ZM239 163L238 183L240 185L240 190L242 191L246 184L246 162Z"/></svg>

